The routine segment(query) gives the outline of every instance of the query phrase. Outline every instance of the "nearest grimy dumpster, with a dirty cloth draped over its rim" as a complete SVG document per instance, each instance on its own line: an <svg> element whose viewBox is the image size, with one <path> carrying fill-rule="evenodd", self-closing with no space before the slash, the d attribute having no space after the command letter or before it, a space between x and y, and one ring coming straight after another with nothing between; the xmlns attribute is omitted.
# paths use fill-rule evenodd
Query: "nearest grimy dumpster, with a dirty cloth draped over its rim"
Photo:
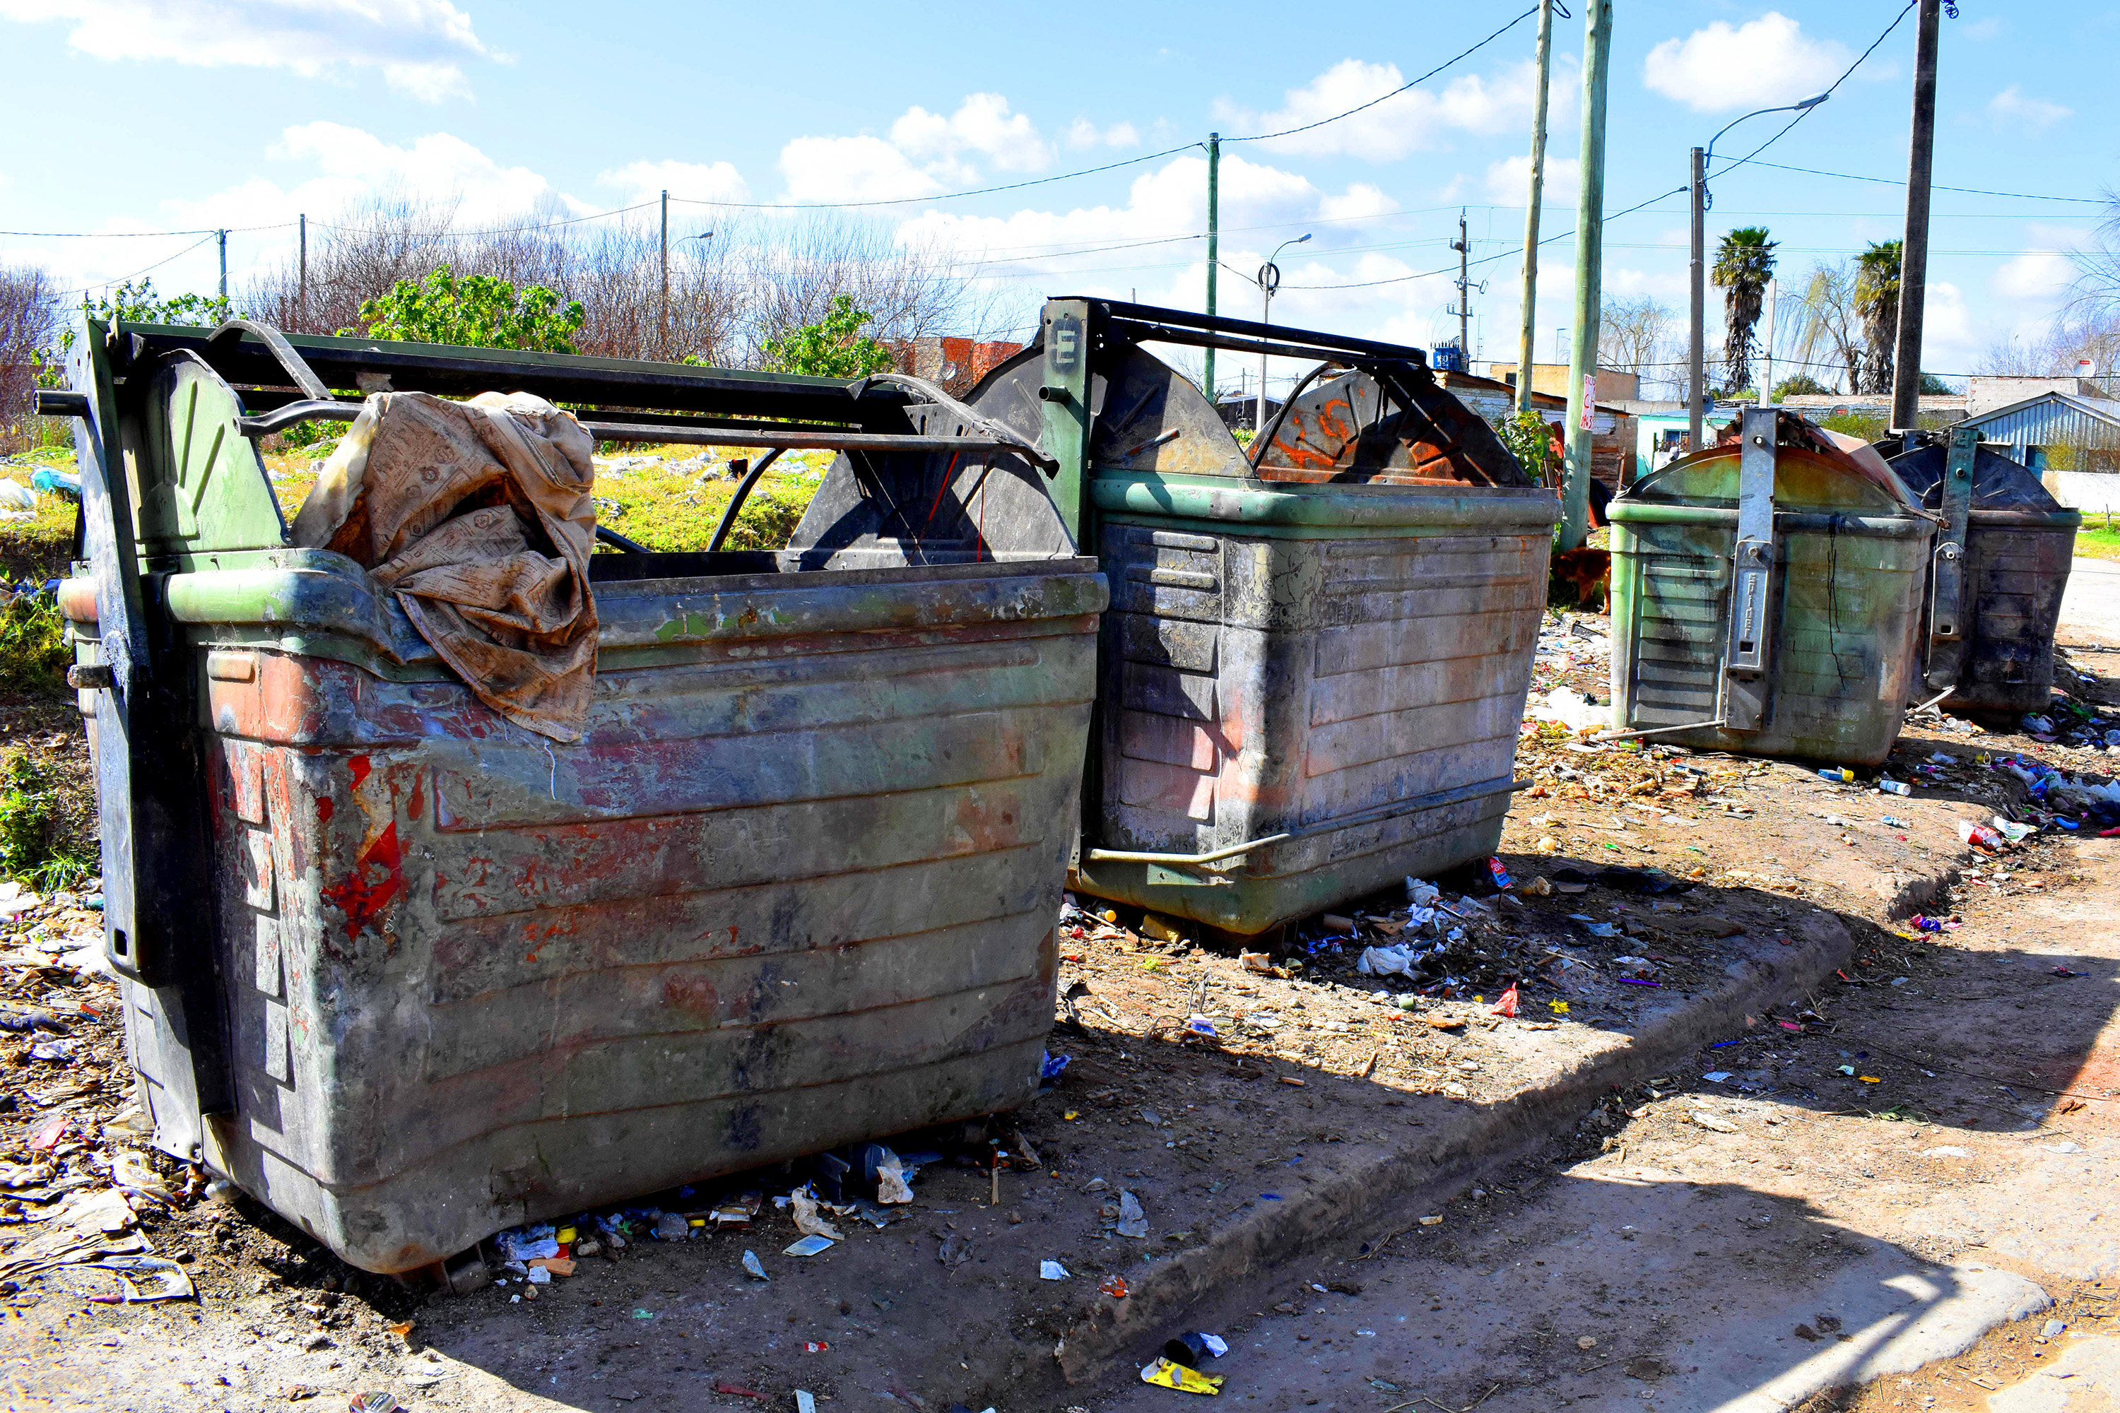
<svg viewBox="0 0 2120 1413"><path fill-rule="evenodd" d="M89 324L72 373L61 600L161 1148L411 1271L1035 1093L1107 602L1049 498L999 561L591 555L594 701L558 744L288 547L257 451L375 379L522 388L606 441L1007 462L1043 498L1020 443L929 428L903 383L250 326Z"/></svg>

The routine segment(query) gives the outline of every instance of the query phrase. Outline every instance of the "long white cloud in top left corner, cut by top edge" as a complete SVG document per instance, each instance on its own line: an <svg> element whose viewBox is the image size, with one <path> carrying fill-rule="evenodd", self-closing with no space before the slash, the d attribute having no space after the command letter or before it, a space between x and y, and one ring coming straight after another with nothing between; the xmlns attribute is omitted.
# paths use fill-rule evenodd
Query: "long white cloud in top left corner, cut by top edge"
<svg viewBox="0 0 2120 1413"><path fill-rule="evenodd" d="M498 57L449 0L0 0L0 19L72 23L66 42L95 59L375 70L430 104L471 95L464 59Z"/></svg>

